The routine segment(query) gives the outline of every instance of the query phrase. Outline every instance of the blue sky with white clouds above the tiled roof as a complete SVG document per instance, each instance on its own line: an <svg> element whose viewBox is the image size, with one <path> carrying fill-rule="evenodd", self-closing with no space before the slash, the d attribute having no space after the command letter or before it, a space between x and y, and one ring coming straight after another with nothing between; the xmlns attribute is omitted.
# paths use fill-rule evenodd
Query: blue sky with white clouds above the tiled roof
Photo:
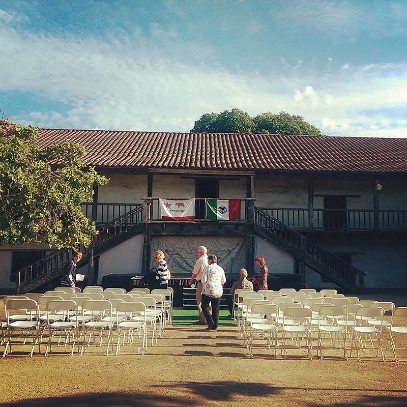
<svg viewBox="0 0 407 407"><path fill-rule="evenodd" d="M188 132L238 107L407 137L405 0L0 0L0 47L23 125Z"/></svg>

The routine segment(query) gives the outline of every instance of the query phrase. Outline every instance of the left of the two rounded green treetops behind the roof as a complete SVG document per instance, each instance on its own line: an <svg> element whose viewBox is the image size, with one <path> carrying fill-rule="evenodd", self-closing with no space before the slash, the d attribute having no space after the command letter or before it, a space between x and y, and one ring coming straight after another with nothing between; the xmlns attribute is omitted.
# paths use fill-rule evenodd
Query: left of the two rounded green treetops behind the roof
<svg viewBox="0 0 407 407"><path fill-rule="evenodd" d="M253 120L245 111L233 108L221 113L205 113L197 120L192 132L208 133L251 133Z"/></svg>

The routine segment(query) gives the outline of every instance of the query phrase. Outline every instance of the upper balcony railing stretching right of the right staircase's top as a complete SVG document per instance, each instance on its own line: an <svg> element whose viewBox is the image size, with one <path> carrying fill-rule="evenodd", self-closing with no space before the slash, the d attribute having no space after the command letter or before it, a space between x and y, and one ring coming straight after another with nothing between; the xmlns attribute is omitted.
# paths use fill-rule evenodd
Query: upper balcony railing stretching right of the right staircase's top
<svg viewBox="0 0 407 407"><path fill-rule="evenodd" d="M259 208L297 230L407 230L407 211L370 209Z"/></svg>

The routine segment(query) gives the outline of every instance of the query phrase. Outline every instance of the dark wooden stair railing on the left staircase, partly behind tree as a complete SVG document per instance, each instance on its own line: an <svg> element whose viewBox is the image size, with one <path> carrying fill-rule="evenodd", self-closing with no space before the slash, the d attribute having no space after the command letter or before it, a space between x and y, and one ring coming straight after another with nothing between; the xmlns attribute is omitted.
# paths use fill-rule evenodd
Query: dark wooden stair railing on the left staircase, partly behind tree
<svg viewBox="0 0 407 407"><path fill-rule="evenodd" d="M143 207L137 206L133 210L125 213L117 219L113 219L111 222L104 224L98 228L99 234L96 235L92 244L87 248L80 248L83 253L83 258L86 258L90 254L92 249L95 249L100 244L107 240L127 231L131 227L142 222ZM35 263L18 270L16 273L16 292L20 293L21 287L34 282L44 274L52 274L52 271L62 269L72 258L72 250L62 249L54 251L37 261ZM55 275L56 277L56 275Z"/></svg>

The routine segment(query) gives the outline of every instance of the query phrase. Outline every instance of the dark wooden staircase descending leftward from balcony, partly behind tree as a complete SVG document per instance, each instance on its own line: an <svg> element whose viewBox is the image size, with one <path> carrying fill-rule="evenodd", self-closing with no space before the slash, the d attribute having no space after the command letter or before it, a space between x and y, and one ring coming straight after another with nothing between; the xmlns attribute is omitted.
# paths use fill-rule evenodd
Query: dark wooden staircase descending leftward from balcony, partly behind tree
<svg viewBox="0 0 407 407"><path fill-rule="evenodd" d="M142 205L98 228L91 246L82 248L78 268L89 264L93 257L124 242L143 230ZM72 250L55 251L17 272L16 292L29 293L60 280L65 265L71 261Z"/></svg>

